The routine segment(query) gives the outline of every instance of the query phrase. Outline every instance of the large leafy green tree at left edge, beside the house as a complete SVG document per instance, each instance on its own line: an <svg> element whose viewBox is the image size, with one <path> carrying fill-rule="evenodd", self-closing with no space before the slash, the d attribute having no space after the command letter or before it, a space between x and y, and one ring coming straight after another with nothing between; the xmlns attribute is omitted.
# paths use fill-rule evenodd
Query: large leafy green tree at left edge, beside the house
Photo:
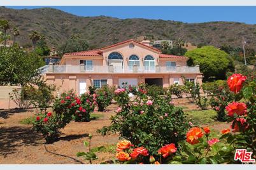
<svg viewBox="0 0 256 170"><path fill-rule="evenodd" d="M27 53L17 44L10 48L0 48L0 86L22 86L40 78L39 67L44 65L42 58L35 53Z"/></svg>

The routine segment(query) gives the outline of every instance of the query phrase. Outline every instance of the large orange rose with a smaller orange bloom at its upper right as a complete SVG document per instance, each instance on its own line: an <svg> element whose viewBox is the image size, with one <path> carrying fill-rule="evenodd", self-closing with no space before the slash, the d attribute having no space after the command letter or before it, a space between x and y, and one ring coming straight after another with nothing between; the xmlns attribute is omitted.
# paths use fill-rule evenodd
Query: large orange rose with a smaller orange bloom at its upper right
<svg viewBox="0 0 256 170"><path fill-rule="evenodd" d="M201 128L190 128L189 131L187 132L187 142L194 145L199 143L199 138L202 138L204 135L203 131Z"/></svg>

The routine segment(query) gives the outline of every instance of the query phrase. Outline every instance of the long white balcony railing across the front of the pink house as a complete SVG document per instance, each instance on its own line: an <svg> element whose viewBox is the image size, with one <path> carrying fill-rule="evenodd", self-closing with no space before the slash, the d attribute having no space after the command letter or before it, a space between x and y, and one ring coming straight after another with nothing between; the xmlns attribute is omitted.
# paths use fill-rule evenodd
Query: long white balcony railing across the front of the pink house
<svg viewBox="0 0 256 170"><path fill-rule="evenodd" d="M139 67L134 65L132 67L122 66L101 66L101 65L47 65L42 70L44 73L199 73L199 67L161 67L156 65L153 67Z"/></svg>

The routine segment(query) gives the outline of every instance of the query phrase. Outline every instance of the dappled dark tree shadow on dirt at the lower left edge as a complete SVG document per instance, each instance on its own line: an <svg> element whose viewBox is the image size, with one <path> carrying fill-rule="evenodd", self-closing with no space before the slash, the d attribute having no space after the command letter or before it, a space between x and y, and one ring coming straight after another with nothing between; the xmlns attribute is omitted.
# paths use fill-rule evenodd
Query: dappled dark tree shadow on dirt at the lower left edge
<svg viewBox="0 0 256 170"><path fill-rule="evenodd" d="M26 127L3 127L0 128L0 155L6 157L13 154L18 147L27 145L38 145L42 137Z"/></svg>

